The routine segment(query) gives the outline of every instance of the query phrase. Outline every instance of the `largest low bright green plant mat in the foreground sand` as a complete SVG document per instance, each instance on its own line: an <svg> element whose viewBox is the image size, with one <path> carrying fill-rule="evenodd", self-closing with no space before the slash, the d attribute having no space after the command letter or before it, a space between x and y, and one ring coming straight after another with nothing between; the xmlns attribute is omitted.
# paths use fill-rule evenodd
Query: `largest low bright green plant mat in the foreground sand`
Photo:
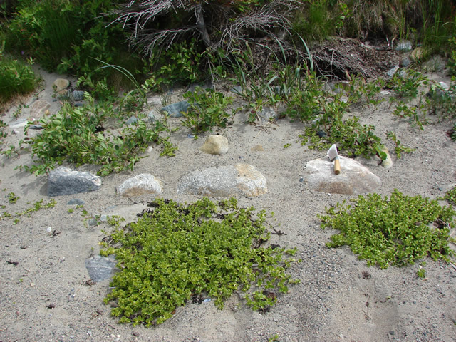
<svg viewBox="0 0 456 342"><path fill-rule="evenodd" d="M101 254L115 254L122 265L105 297L117 301L111 314L120 323L160 324L204 294L222 309L238 290L254 309L265 309L276 302L269 289L286 293L297 282L284 273L295 261L284 254L296 249L260 247L269 240L264 211L254 219L254 208L239 208L233 198L219 206L207 197L189 205L155 199L149 206L138 222L110 234L114 247L101 243Z"/></svg>

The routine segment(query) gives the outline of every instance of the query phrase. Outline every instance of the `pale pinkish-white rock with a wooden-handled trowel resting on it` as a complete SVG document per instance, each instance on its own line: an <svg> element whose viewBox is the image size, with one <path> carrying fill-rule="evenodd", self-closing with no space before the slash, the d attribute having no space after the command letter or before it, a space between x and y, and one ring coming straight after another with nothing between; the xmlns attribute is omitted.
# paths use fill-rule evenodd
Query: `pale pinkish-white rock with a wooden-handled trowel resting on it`
<svg viewBox="0 0 456 342"><path fill-rule="evenodd" d="M371 192L381 185L379 177L356 160L339 156L341 173L334 173L328 158L311 160L306 164L307 183L311 189L331 194L357 195Z"/></svg>

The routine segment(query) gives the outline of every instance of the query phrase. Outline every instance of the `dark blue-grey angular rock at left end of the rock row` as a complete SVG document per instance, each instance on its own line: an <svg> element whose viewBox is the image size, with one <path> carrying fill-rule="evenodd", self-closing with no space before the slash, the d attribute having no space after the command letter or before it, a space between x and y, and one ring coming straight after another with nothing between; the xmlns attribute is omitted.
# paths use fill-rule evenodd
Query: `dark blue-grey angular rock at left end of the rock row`
<svg viewBox="0 0 456 342"><path fill-rule="evenodd" d="M58 167L49 172L48 196L78 194L98 190L101 177L90 172L73 171L68 167Z"/></svg>

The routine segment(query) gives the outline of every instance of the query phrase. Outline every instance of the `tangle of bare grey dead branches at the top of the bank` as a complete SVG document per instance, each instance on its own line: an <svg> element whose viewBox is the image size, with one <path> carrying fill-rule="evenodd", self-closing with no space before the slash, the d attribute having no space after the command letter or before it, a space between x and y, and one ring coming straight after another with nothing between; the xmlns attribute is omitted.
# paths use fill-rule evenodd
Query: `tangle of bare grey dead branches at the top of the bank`
<svg viewBox="0 0 456 342"><path fill-rule="evenodd" d="M120 22L123 28L130 28L130 45L140 48L145 55L157 47L169 48L175 41L189 36L199 37L208 47L224 48L229 52L234 42L247 40L253 32L266 35L272 35L276 30L288 32L291 26L288 14L300 2L269 1L264 6L252 5L249 11L239 11L236 5L231 2L227 5L226 1L132 0L111 14L117 17L113 23ZM151 28L157 19L170 16L181 18L177 19L182 20L180 26ZM209 24L205 18L210 19Z"/></svg>

